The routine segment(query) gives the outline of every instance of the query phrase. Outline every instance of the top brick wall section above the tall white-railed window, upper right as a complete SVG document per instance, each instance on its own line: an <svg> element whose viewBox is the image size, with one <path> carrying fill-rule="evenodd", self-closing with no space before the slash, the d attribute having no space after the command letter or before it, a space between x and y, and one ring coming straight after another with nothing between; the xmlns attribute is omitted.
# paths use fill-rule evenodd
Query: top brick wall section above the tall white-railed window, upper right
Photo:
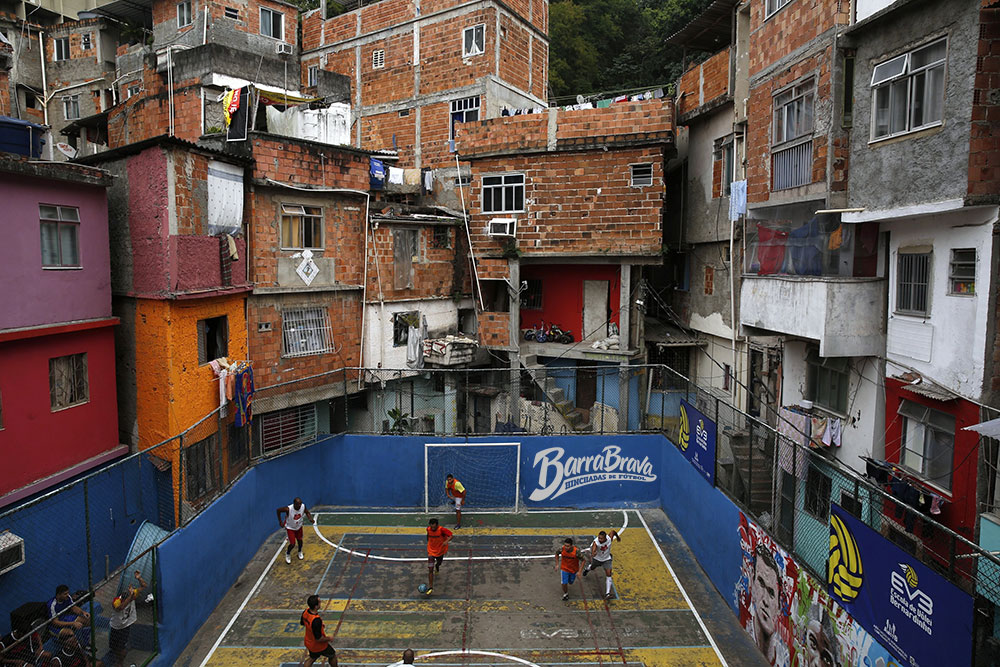
<svg viewBox="0 0 1000 667"><path fill-rule="evenodd" d="M790 2L770 17L763 0L750 4L750 67L753 78L835 26L850 23L851 3L845 0Z"/></svg>

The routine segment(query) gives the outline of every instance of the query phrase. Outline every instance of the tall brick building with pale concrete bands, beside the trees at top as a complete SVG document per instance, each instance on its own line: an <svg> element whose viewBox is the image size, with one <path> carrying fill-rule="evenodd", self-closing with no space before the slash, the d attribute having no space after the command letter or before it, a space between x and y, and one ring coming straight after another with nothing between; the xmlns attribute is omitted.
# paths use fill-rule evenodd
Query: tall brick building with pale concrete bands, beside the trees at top
<svg viewBox="0 0 1000 667"><path fill-rule="evenodd" d="M403 166L454 178L456 123L547 106L547 0L382 0L326 18L318 9L303 16L302 40L303 84L347 74L355 146L398 151Z"/></svg>

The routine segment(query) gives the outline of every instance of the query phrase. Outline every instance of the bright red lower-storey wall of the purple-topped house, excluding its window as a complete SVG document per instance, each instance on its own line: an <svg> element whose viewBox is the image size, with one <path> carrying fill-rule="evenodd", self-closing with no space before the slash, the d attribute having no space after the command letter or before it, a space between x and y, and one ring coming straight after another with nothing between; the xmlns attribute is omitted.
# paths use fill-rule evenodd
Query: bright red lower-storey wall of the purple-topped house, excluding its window
<svg viewBox="0 0 1000 667"><path fill-rule="evenodd" d="M90 401L52 412L49 359L87 353ZM0 497L118 447L111 326L0 344Z"/></svg>

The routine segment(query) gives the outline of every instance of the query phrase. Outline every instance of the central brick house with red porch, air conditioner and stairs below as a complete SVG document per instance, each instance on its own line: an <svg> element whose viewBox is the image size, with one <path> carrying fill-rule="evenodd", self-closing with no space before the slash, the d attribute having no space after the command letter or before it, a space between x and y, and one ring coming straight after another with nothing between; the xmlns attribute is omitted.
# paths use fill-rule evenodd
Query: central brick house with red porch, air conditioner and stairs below
<svg viewBox="0 0 1000 667"><path fill-rule="evenodd" d="M458 142L471 165L482 344L506 353L511 368L533 371L567 427L636 428L623 378L645 354L636 305L643 269L662 261L672 101L467 123ZM582 344L524 341L521 331L540 323ZM543 366L580 370L557 390ZM504 410L498 419L520 422L518 411L531 407L512 400Z"/></svg>

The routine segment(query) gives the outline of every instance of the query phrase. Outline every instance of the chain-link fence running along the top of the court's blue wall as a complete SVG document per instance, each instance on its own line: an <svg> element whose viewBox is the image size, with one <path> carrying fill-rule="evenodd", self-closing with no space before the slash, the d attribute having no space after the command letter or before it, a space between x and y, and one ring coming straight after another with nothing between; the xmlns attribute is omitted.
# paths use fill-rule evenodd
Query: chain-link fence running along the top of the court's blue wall
<svg viewBox="0 0 1000 667"><path fill-rule="evenodd" d="M716 486L821 581L835 502L981 603L1000 604L996 556L738 410L728 392L668 366L557 359L516 368L338 369L258 389L252 424L238 426L231 405L216 409L170 440L0 514L0 534L29 545L26 564L5 574L0 589L0 609L15 612L3 657L61 650L47 606L66 585L89 612L73 634L92 659L115 664L115 640L124 664L147 662L156 652L156 545L256 461L322 434L656 432L677 443L682 400L717 424ZM122 649L113 603L138 584L136 571L147 587Z"/></svg>

